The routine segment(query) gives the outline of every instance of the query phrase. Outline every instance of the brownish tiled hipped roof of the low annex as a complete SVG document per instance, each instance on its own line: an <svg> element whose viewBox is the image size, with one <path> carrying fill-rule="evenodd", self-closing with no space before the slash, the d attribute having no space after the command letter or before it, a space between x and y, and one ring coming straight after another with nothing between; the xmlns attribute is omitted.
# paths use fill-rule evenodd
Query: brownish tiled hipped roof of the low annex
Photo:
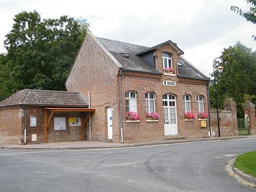
<svg viewBox="0 0 256 192"><path fill-rule="evenodd" d="M87 107L88 103L80 93L67 91L21 90L0 102L0 108L14 105Z"/></svg>

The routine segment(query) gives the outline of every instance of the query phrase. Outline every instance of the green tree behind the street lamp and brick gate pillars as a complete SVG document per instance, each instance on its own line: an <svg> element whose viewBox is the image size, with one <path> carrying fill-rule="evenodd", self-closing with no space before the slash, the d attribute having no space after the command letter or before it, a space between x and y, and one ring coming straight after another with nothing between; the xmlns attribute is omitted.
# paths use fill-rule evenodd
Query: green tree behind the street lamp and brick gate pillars
<svg viewBox="0 0 256 192"><path fill-rule="evenodd" d="M243 117L242 104L250 99L256 104L256 51L252 52L241 42L224 49L221 58L224 68L217 76L217 93L220 106L225 98L233 98L237 104L238 117ZM210 86L211 106L215 106L214 86Z"/></svg>

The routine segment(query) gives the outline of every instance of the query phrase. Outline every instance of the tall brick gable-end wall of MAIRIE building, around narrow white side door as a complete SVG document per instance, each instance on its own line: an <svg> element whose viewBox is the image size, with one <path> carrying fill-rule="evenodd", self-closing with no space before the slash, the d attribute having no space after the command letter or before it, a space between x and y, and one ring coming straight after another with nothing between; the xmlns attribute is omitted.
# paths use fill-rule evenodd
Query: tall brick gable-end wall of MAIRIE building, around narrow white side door
<svg viewBox="0 0 256 192"><path fill-rule="evenodd" d="M106 108L113 108L113 140L120 142L120 120L118 118L118 66L95 40L87 35L66 82L69 92L80 92L89 101L91 94L92 140L108 138ZM86 130L89 140L89 129Z"/></svg>

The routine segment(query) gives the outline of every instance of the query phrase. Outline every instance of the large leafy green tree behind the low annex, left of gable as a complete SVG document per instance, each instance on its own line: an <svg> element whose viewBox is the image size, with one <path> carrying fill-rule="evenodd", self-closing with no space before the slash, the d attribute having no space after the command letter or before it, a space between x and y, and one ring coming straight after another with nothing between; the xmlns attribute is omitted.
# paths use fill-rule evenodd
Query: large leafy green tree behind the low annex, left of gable
<svg viewBox="0 0 256 192"><path fill-rule="evenodd" d="M0 100L17 90L65 90L65 81L89 24L61 16L41 19L36 11L14 17L0 57Z"/></svg>

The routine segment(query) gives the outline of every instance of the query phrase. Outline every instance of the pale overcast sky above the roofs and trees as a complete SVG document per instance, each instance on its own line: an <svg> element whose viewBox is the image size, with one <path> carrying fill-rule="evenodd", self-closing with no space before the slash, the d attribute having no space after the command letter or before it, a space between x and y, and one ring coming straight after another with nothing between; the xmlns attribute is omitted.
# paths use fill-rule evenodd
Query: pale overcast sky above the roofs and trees
<svg viewBox="0 0 256 192"><path fill-rule="evenodd" d="M253 51L256 25L230 11L236 5L248 10L245 0L0 0L0 52L12 29L14 15L36 10L42 18L62 15L87 19L97 37L152 47L166 40L177 42L184 57L204 74L224 48L241 41Z"/></svg>

